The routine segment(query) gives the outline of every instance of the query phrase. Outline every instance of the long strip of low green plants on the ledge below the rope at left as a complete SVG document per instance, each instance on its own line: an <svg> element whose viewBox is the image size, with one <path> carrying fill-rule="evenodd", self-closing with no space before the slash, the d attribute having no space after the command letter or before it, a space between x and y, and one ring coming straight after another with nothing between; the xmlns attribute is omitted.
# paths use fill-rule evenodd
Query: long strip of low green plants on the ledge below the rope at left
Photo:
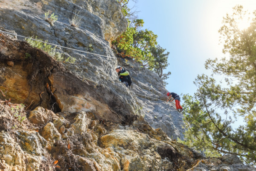
<svg viewBox="0 0 256 171"><path fill-rule="evenodd" d="M30 38L32 38L32 37L30 37ZM56 46L52 47L52 45L48 44L47 41L44 41L46 43L41 42L43 40L38 39L37 36L35 38L33 38L36 40L32 40L30 38L25 39L25 41L27 43L29 43L30 46L36 47L38 49L42 49L44 52L48 53L55 60L61 61L61 62L70 62L70 63L74 63L76 61L76 59L73 57L68 57L67 59L65 59L64 53L60 53L60 52L56 51Z"/></svg>

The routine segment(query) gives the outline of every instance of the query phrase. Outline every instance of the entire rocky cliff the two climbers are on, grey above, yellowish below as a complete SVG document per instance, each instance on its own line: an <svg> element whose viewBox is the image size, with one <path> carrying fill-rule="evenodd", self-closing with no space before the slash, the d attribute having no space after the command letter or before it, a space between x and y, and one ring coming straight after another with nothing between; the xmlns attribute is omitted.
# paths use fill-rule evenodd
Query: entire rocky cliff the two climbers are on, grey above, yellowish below
<svg viewBox="0 0 256 171"><path fill-rule="evenodd" d="M13 34L0 32L0 170L254 171L172 140L183 139L182 116L164 102L163 82L111 49L127 24L116 0L0 1L0 30ZM19 35L72 48L57 47L76 61L56 61ZM117 80L117 64L131 89Z"/></svg>

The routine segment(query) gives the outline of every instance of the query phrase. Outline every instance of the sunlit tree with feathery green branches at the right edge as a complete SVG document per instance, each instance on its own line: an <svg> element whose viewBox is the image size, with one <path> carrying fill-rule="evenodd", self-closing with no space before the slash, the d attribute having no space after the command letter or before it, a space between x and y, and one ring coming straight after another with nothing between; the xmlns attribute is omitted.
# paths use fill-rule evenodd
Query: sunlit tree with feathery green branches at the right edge
<svg viewBox="0 0 256 171"><path fill-rule="evenodd" d="M256 165L256 13L247 29L239 29L247 12L242 6L233 10L219 30L223 52L230 57L208 59L205 67L212 69L212 75L198 75L197 93L183 98L188 128L184 143L205 149L208 156L236 154ZM224 75L225 85L218 84L214 75ZM237 117L244 118L244 124L233 128Z"/></svg>

